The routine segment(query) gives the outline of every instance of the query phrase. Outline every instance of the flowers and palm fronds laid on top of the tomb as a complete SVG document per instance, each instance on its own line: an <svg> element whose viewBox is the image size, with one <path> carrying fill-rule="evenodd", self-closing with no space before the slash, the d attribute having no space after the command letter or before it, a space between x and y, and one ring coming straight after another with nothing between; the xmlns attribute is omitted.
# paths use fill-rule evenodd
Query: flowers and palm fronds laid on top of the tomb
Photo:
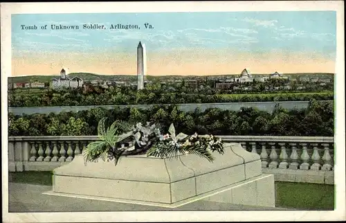
<svg viewBox="0 0 346 223"><path fill-rule="evenodd" d="M102 160L118 162L121 156L147 154L147 157L173 158L179 154L197 154L199 157L214 161L212 152L224 154L221 139L212 135L199 136L197 133L188 136L176 134L171 124L168 133L161 134L159 125L130 125L116 121L107 130L105 118L98 124L98 141L91 142L83 151L84 162Z"/></svg>

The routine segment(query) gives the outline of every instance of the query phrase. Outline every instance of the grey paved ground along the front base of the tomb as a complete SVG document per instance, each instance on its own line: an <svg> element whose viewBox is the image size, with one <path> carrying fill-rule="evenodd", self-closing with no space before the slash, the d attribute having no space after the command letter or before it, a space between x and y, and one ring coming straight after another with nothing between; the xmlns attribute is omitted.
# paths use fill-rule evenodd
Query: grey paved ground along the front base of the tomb
<svg viewBox="0 0 346 223"><path fill-rule="evenodd" d="M105 202L93 199L43 195L52 186L33 184L9 184L8 211L11 212L73 212L73 211L267 211L291 210L286 208L264 208L240 206L220 202L199 200L178 208L163 208L139 204Z"/></svg>

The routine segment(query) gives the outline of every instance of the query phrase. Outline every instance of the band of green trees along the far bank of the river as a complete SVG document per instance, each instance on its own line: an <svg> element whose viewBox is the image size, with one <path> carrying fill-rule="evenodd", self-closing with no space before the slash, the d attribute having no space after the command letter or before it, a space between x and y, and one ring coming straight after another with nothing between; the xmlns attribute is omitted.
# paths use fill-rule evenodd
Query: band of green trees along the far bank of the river
<svg viewBox="0 0 346 223"><path fill-rule="evenodd" d="M294 100L333 100L334 93L261 93L261 94L218 94L209 90L206 93L185 93L164 89L160 84L147 86L137 91L134 87L84 87L79 89L49 89L44 93L9 93L9 107L46 107L46 106L85 106L85 105L150 105L184 104L214 102L258 102Z"/></svg>

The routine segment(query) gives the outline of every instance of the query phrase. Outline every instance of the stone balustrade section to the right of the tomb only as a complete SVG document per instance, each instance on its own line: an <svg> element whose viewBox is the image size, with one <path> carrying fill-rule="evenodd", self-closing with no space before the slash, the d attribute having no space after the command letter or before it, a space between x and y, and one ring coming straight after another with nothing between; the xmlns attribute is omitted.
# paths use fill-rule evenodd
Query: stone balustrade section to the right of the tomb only
<svg viewBox="0 0 346 223"><path fill-rule="evenodd" d="M262 172L275 181L334 184L334 137L220 136L260 154Z"/></svg>

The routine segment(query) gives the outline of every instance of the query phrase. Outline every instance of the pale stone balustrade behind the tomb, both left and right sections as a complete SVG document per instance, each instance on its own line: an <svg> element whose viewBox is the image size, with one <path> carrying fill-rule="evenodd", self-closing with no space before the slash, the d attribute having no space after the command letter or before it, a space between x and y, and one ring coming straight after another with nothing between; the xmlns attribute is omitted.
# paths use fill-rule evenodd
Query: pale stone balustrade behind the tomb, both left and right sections
<svg viewBox="0 0 346 223"><path fill-rule="evenodd" d="M241 143L262 160L262 170L277 181L334 184L334 137L220 136ZM10 136L9 171L51 171L73 160L97 136Z"/></svg>

